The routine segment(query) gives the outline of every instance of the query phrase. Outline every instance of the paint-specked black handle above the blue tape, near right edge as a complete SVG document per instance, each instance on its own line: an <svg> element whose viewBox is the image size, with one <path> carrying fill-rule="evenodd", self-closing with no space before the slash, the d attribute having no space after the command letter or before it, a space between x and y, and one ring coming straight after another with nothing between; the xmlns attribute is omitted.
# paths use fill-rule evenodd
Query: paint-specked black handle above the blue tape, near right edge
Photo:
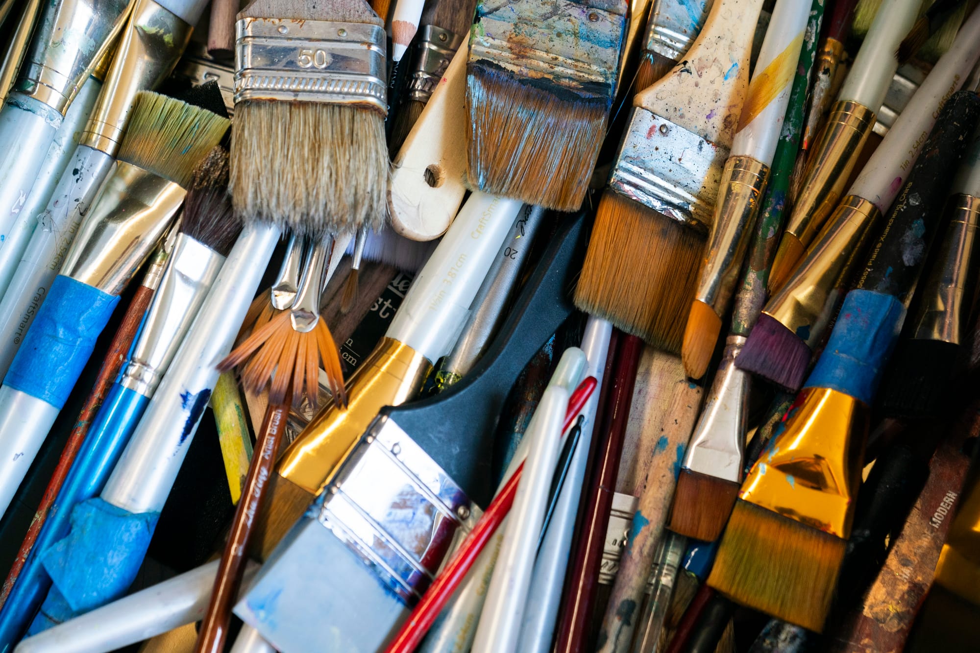
<svg viewBox="0 0 980 653"><path fill-rule="evenodd" d="M858 288L892 295L908 306L936 231L949 215L943 204L978 119L980 97L972 91L957 91L943 107L871 248Z"/></svg>

